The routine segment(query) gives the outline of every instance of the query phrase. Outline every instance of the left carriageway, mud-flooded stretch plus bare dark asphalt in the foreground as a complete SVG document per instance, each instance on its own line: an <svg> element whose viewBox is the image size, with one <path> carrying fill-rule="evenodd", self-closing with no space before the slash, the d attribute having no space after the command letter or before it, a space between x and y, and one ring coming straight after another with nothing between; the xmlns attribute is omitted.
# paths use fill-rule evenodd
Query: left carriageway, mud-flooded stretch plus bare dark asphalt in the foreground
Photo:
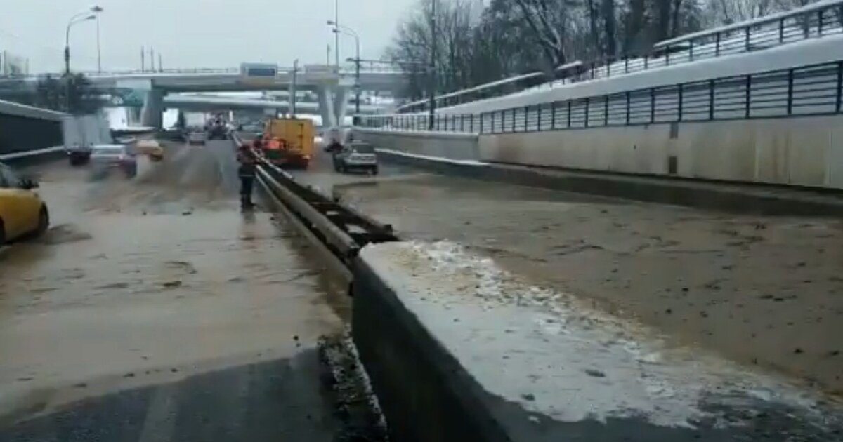
<svg viewBox="0 0 843 442"><path fill-rule="evenodd" d="M0 439L333 437L315 345L344 290L292 226L240 212L230 141L133 180L37 172L53 227L0 258Z"/></svg>

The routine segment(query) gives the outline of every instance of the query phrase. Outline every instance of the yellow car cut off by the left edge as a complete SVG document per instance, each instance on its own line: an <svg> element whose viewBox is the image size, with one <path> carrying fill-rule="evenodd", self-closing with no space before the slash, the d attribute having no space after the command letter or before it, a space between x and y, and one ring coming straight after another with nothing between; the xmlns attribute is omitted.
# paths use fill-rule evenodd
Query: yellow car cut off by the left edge
<svg viewBox="0 0 843 442"><path fill-rule="evenodd" d="M50 212L35 192L38 183L0 162L0 246L50 226Z"/></svg>

